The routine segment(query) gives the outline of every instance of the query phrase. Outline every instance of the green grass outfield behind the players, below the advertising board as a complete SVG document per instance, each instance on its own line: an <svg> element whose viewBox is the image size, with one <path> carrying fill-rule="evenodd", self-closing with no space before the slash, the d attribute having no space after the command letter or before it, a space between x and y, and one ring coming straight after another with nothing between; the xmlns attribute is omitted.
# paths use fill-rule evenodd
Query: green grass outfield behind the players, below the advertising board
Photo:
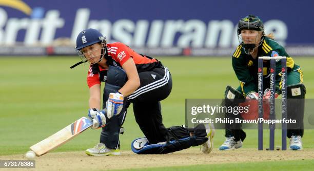
<svg viewBox="0 0 314 171"><path fill-rule="evenodd" d="M230 58L158 58L170 69L172 92L162 102L164 124L185 122L185 99L222 99L226 85L238 86ZM76 119L86 116L89 91L87 66L69 66L78 58L0 58L0 155L22 154L38 141ZM304 72L307 98L314 98L314 58L295 58ZM123 150L143 136L135 123L132 108L121 136ZM99 141L100 130L87 130L55 151L83 151ZM313 130L305 130L304 148L314 148ZM256 130L247 130L246 148L257 147ZM267 136L267 134L264 134ZM280 131L277 132L280 137ZM224 141L218 130L214 143ZM280 144L280 139L276 140ZM267 145L267 144L265 144Z"/></svg>

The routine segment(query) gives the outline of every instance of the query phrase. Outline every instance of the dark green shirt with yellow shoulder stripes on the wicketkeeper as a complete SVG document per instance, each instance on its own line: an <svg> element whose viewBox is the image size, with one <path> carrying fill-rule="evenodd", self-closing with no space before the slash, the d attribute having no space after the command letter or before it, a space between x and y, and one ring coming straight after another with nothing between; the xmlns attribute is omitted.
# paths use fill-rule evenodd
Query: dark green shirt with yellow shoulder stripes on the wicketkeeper
<svg viewBox="0 0 314 171"><path fill-rule="evenodd" d="M298 69L293 59L278 42L264 37L262 44L258 47L258 56L287 56L287 71ZM258 58L253 59L250 54L246 54L241 45L237 47L232 55L232 67L240 81L240 86L244 97L250 92L257 92L258 88ZM264 79L269 79L270 60L264 60ZM280 94L281 89L281 61L276 61L276 92ZM265 86L264 86L265 87Z"/></svg>

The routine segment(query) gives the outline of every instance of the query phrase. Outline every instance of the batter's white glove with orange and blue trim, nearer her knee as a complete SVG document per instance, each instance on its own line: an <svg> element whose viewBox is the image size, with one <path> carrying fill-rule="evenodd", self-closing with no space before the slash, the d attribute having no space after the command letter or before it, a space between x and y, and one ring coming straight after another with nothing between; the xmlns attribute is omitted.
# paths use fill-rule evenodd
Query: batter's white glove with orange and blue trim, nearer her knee
<svg viewBox="0 0 314 171"><path fill-rule="evenodd" d="M109 94L109 99L107 100L107 117L110 119L113 116L119 115L123 108L123 95L119 92Z"/></svg>

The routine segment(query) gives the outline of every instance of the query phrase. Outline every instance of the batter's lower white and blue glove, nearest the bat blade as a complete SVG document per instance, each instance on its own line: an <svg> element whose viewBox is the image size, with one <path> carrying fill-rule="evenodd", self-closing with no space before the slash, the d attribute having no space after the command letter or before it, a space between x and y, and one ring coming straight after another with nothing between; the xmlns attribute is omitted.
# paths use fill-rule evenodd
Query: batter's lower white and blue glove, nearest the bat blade
<svg viewBox="0 0 314 171"><path fill-rule="evenodd" d="M92 121L92 129L98 129L101 127L106 126L106 117L105 117L105 111L99 111L96 108L92 108L88 110L88 117Z"/></svg>

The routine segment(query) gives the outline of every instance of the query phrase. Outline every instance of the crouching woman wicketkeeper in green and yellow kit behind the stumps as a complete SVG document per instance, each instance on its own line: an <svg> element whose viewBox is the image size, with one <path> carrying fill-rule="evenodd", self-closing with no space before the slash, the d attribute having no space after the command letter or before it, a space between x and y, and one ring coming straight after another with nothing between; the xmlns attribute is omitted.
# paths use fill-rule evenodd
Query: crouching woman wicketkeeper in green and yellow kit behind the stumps
<svg viewBox="0 0 314 171"><path fill-rule="evenodd" d="M241 18L238 23L238 37L240 45L232 54L232 67L240 86L236 90L227 86L225 92L226 105L230 102L228 100L230 97L233 97L233 99L258 99L258 56L287 56L287 116L291 119L297 119L299 122L296 124L297 127L287 130L287 137L290 138L290 149L302 149L304 103L293 104L296 101L290 101L289 104L289 99L304 99L305 97L306 90L302 84L303 74L300 66L274 40L272 34L265 35L263 22L258 16L248 15ZM264 60L264 99L269 99L270 96L269 71L269 60ZM275 86L275 97L277 98L281 93L280 61L276 62ZM230 92L235 96L228 96ZM293 106L293 109L291 109L291 106ZM240 124L232 124L230 127L226 127L225 137L226 141L220 146L220 150L240 148L246 134L241 129Z"/></svg>

